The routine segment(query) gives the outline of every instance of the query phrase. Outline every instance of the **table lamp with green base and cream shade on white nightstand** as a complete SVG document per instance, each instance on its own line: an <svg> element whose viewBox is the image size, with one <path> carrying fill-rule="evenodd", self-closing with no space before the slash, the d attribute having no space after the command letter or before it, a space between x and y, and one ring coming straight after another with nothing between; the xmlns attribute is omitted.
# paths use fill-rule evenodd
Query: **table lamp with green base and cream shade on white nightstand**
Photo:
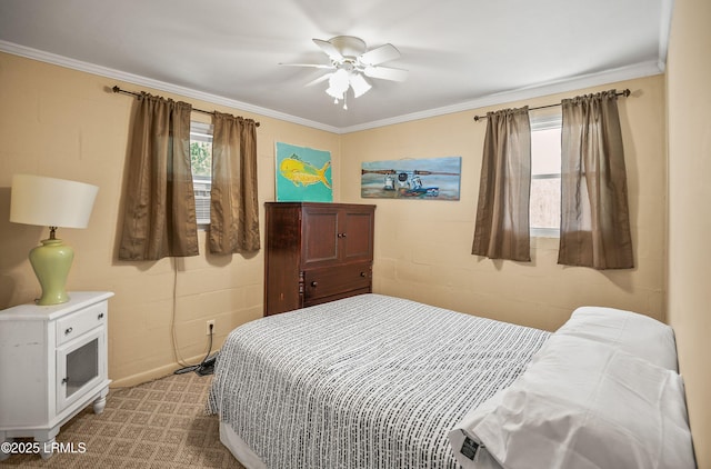
<svg viewBox="0 0 711 469"><path fill-rule="evenodd" d="M41 176L14 174L10 221L49 227L49 239L30 251L30 263L42 287L38 305L69 301L64 290L74 258L71 247L56 238L57 228L87 228L99 188Z"/></svg>

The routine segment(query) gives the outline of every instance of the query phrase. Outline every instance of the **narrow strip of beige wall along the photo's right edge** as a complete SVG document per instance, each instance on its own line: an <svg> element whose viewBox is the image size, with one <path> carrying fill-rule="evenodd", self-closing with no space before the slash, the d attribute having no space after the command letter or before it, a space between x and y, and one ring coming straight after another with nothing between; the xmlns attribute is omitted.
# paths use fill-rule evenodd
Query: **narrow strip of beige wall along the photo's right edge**
<svg viewBox="0 0 711 469"><path fill-rule="evenodd" d="M677 0L668 61L669 323L699 468L711 468L711 2Z"/></svg>

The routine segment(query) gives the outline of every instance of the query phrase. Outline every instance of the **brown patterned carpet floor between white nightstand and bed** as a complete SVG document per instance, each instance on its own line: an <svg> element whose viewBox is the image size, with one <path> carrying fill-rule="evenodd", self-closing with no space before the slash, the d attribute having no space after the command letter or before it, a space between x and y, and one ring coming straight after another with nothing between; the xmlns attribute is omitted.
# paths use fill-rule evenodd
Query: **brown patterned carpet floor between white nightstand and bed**
<svg viewBox="0 0 711 469"><path fill-rule="evenodd" d="M62 426L57 441L73 443L74 453L58 452L46 461L12 455L0 466L243 469L220 443L217 416L204 413L211 380L189 372L111 389L102 413L89 406Z"/></svg>

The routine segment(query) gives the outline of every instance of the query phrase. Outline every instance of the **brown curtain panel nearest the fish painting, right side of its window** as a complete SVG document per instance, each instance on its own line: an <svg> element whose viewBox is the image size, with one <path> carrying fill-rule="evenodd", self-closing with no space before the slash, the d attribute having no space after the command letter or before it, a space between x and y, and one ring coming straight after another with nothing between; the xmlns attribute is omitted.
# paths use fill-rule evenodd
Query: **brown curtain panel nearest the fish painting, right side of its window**
<svg viewBox="0 0 711 469"><path fill-rule="evenodd" d="M210 252L258 251L257 124L220 112L212 124Z"/></svg>

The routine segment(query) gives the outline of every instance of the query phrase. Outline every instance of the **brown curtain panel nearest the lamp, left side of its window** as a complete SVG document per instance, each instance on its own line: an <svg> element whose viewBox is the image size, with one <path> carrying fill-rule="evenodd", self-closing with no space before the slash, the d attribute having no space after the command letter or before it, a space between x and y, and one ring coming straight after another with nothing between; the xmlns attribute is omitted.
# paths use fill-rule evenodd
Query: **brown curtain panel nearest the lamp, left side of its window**
<svg viewBox="0 0 711 469"><path fill-rule="evenodd" d="M129 153L120 260L198 255L187 102L141 93Z"/></svg>

